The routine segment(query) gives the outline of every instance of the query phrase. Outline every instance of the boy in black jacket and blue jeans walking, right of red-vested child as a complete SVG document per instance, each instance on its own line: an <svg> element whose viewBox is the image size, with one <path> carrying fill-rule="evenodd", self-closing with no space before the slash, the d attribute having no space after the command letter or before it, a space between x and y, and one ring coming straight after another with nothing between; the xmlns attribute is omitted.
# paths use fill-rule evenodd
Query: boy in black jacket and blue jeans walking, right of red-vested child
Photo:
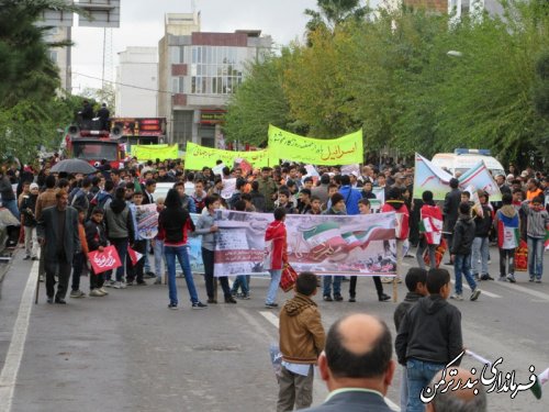
<svg viewBox="0 0 549 412"><path fill-rule="evenodd" d="M471 248L474 241L475 225L471 218L471 207L469 203L459 205L459 219L453 232L453 243L450 245L450 253L453 260L453 272L456 275L456 293L450 299L463 300L461 288L461 275L463 275L472 290L471 300L479 299L481 293L471 275Z"/></svg>

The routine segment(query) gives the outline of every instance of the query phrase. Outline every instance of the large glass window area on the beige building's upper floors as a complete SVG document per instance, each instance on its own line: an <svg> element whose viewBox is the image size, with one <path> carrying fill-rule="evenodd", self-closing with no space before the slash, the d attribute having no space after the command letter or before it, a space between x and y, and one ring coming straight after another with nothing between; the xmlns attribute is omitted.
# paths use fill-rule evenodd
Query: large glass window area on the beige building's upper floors
<svg viewBox="0 0 549 412"><path fill-rule="evenodd" d="M243 81L238 52L245 47L193 46L191 51L191 94L231 94Z"/></svg>

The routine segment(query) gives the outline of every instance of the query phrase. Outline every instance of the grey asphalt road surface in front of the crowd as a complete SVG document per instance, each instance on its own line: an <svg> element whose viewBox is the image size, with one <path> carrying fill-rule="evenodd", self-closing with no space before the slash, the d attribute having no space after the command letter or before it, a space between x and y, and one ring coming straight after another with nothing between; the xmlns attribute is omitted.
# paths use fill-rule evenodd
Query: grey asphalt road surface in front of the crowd
<svg viewBox="0 0 549 412"><path fill-rule="evenodd" d="M496 255L493 249L492 256ZM30 275L32 263L20 258L15 257L3 281L0 299L3 376L9 375L7 365L13 364L13 357L5 359L10 343L20 342L26 332L12 412L274 410L278 387L268 346L277 341L277 312L262 307L266 280L253 280L249 301L202 311L190 309L182 279L178 280L183 303L179 311L167 309L166 286L112 290L105 298L69 300L67 307L48 305L42 296L38 305L30 305L29 297L22 301L22 296L35 272ZM404 261L405 266L415 263ZM496 274L495 263L491 272ZM517 278L516 285L481 282L485 293L478 302L456 304L462 312L466 346L491 360L503 357L500 370L515 369L517 381L526 382L530 365L538 371L549 367L549 279L536 285L526 275ZM200 276L195 280L205 300L203 280ZM82 283L87 286L88 280ZM29 283L27 293L32 286ZM400 299L404 288L399 286ZM326 327L347 312L363 311L384 319L394 332L395 303L378 302L371 279L359 279L357 303L316 300ZM26 326L26 307L31 309L27 329L22 327ZM466 358L463 366L479 365ZM397 374L388 393L395 403L399 385ZM0 388L0 398L10 393L7 389ZM317 380L315 403L326 394ZM2 412L10 411L4 400L0 399ZM514 400L508 393L493 393L489 405L500 412L547 411L549 393L541 401L529 392L520 392Z"/></svg>

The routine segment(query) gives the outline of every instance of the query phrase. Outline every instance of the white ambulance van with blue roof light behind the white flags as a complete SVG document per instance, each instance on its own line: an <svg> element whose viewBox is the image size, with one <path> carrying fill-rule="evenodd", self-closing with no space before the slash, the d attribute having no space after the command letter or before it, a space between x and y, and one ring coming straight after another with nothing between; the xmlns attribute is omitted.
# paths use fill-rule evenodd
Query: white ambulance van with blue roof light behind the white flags
<svg viewBox="0 0 549 412"><path fill-rule="evenodd" d="M492 176L505 176L502 164L495 157L490 156L489 149L457 148L453 153L437 153L432 162L456 176L456 174L463 175L480 160L484 160Z"/></svg>

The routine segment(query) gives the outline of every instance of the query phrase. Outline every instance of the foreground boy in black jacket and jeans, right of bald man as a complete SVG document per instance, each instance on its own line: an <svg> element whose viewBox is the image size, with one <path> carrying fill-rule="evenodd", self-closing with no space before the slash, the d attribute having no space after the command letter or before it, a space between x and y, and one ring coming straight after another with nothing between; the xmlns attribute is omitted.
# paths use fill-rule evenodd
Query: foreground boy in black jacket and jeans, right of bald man
<svg viewBox="0 0 549 412"><path fill-rule="evenodd" d="M436 372L450 361L459 366L463 350L461 312L447 302L450 274L430 269L427 274L428 297L422 298L406 312L396 335L399 364L406 366L408 401L406 412L423 412L421 393Z"/></svg>

